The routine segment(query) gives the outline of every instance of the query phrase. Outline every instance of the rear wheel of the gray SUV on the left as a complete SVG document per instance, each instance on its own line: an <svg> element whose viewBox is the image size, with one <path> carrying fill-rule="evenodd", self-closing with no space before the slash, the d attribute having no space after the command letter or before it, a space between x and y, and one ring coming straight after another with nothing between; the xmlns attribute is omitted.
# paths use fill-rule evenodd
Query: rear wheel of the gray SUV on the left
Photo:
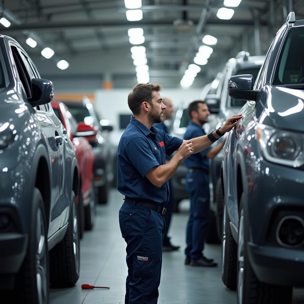
<svg viewBox="0 0 304 304"><path fill-rule="evenodd" d="M54 287L71 287L79 278L80 244L76 196L71 195L67 232L63 240L50 250L50 283Z"/></svg>

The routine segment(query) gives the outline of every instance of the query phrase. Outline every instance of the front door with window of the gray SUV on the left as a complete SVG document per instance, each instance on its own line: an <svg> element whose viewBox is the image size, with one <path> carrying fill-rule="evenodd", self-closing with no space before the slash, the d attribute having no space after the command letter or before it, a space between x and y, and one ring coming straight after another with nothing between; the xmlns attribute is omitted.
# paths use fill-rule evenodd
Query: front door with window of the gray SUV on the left
<svg viewBox="0 0 304 304"><path fill-rule="evenodd" d="M22 83L23 90L27 98L31 97L31 79L36 78L38 75L30 68L28 61L19 47L13 43L10 44L12 57L15 61L19 79ZM47 149L49 154L49 162L51 168L51 206L50 206L50 226L48 231L48 237L54 234L60 227L62 214L58 205L60 198L60 145L56 143L56 136L60 136L58 130L60 130L61 123L54 123L52 119L47 115L46 105L40 105L34 108L36 111L36 118L38 119L42 133L47 139Z"/></svg>

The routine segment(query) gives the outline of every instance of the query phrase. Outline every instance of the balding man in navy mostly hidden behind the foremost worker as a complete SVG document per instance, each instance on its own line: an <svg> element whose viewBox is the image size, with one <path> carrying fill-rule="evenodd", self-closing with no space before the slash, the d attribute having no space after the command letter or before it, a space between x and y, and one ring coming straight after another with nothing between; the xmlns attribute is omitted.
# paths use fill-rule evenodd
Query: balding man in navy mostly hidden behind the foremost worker
<svg viewBox="0 0 304 304"><path fill-rule="evenodd" d="M163 114L163 121L161 123L154 123L154 128L158 128L163 130L165 133L169 134L168 127L165 125L164 121L167 119L171 119L174 108L171 99L169 98L163 98L163 104L166 106L166 109L164 109ZM166 154L166 162L170 161L172 156L169 156ZM174 205L174 193L173 193L173 187L171 179L169 179L169 200L166 204L166 214L164 214L164 220L166 224L165 232L164 232L164 242L163 242L163 251L172 251L172 250L178 250L180 246L174 246L170 242L170 237L168 236L168 231L171 223L171 217L173 212L173 205Z"/></svg>

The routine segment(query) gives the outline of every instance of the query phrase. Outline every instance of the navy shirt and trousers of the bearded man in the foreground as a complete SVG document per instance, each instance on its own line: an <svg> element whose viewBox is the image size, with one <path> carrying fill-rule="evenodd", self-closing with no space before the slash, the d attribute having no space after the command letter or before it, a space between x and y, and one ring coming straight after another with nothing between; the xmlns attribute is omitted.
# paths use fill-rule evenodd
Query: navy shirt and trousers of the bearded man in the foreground
<svg viewBox="0 0 304 304"><path fill-rule="evenodd" d="M166 154L181 144L181 139L154 127L149 130L133 116L120 138L117 183L118 191L126 196L119 210L120 230L127 243L126 304L157 303L165 228L161 212L168 202L169 183L156 187L145 174L165 164Z"/></svg>

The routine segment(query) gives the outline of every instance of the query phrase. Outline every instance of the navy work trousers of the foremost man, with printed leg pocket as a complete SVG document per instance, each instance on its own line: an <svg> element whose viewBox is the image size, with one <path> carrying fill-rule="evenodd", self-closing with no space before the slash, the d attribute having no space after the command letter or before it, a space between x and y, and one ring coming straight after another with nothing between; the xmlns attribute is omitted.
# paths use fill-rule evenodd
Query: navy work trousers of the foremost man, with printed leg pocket
<svg viewBox="0 0 304 304"><path fill-rule="evenodd" d="M127 202L119 210L119 226L127 243L125 304L156 304L161 279L163 216Z"/></svg>

